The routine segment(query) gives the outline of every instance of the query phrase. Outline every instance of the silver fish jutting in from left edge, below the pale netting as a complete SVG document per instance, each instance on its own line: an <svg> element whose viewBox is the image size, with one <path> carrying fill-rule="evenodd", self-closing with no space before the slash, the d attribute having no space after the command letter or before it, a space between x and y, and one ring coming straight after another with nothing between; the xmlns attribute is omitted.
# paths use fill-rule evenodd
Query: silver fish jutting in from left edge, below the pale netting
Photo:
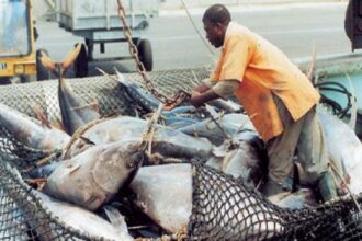
<svg viewBox="0 0 362 241"><path fill-rule="evenodd" d="M0 103L0 126L22 145L44 151L61 150L70 140L68 134L42 125Z"/></svg>

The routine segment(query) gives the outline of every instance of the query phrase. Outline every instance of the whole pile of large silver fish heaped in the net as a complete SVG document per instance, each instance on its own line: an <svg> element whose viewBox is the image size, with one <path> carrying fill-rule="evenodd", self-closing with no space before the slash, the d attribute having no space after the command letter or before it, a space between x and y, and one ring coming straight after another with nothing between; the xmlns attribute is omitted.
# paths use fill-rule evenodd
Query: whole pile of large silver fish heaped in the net
<svg viewBox="0 0 362 241"><path fill-rule="evenodd" d="M129 100L145 112L157 112L159 102L142 87L122 74L118 81ZM256 190L265 177L263 142L234 102L218 101L202 110L185 105L161 111L158 124L149 131L150 115L101 118L97 107L77 96L61 74L58 96L63 129L1 103L0 124L26 147L61 151L59 161L35 169L30 175L46 179L34 193L64 223L77 230L110 240L155 238L186 230L192 213L191 160L230 174ZM318 113L336 181L359 194L361 142L343 122L321 108ZM317 205L313 187L301 177L297 192L283 193L271 200L290 209ZM145 220L147 223L143 223ZM129 223L148 228L128 231Z"/></svg>

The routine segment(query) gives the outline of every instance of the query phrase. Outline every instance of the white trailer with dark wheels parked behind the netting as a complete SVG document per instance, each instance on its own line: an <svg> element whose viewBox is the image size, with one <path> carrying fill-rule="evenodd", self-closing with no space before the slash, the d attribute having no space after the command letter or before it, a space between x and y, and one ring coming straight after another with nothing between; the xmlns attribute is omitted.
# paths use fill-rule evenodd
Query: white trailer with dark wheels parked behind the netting
<svg viewBox="0 0 362 241"><path fill-rule="evenodd" d="M138 57L147 71L152 70L150 42L142 37L148 27L148 19L159 12L160 0L123 0L127 25L132 30L133 43L137 46ZM56 0L59 26L73 35L84 38L84 45L76 60L77 77L86 77L88 61L93 61L94 45L105 53L105 44L125 42L123 24L118 16L117 0ZM121 60L131 57L102 58L98 60Z"/></svg>

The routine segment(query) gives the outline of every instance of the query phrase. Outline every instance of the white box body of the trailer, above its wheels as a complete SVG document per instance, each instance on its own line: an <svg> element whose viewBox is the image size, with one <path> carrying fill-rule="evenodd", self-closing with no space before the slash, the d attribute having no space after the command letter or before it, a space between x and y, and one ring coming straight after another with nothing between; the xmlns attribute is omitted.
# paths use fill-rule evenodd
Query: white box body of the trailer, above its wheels
<svg viewBox="0 0 362 241"><path fill-rule="evenodd" d="M145 28L157 15L160 0L123 0L131 28ZM56 0L57 21L70 32L122 28L116 0Z"/></svg>

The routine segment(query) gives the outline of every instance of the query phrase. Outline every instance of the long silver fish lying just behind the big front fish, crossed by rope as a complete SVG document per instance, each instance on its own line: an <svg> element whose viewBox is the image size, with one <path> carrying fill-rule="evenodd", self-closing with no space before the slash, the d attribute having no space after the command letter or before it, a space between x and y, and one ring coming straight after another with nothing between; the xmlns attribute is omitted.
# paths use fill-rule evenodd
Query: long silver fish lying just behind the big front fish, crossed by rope
<svg viewBox="0 0 362 241"><path fill-rule="evenodd" d="M147 129L147 120L129 116L121 116L92 126L82 134L94 145L109 144L132 137L142 137ZM192 145L190 145L192 144ZM152 152L159 152L170 157L208 157L212 152L212 144L204 138L188 136L178 130L157 125L152 139ZM73 157L84 150L84 141L76 141L65 154L65 158Z"/></svg>

